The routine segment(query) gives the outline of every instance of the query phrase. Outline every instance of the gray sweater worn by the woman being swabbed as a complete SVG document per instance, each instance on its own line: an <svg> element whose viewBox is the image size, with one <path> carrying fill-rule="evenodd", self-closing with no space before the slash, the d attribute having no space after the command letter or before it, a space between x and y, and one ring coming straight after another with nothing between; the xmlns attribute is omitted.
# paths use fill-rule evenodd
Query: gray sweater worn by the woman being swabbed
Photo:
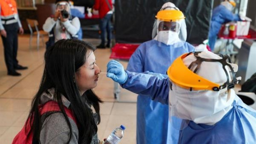
<svg viewBox="0 0 256 144"><path fill-rule="evenodd" d="M48 93L49 92L49 93ZM49 100L53 100L54 89L49 89L48 92L44 92L40 99L40 104L44 104ZM69 107L70 102L62 96L62 102L65 107ZM98 116L96 113L93 114L95 123L98 122ZM43 118L43 116L42 116ZM41 118L41 119L42 119ZM71 140L69 144L78 144L78 128L76 123L69 118L69 122L72 127ZM42 125L40 133L41 144L67 144L69 139L69 127L62 113L53 113L47 116ZM94 135L91 144L99 144L98 135Z"/></svg>

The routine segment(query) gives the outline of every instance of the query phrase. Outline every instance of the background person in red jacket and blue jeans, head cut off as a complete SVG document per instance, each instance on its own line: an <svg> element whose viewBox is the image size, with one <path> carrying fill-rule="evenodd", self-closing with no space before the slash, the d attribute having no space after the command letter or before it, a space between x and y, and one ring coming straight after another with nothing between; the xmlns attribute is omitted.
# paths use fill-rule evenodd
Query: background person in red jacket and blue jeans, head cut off
<svg viewBox="0 0 256 144"><path fill-rule="evenodd" d="M112 1L111 0L95 0L95 4L93 6L94 10L99 10L100 16L100 38L101 43L97 46L97 48L106 48L110 47L111 40L111 17L113 14L112 11ZM105 32L107 29L107 45L105 46Z"/></svg>

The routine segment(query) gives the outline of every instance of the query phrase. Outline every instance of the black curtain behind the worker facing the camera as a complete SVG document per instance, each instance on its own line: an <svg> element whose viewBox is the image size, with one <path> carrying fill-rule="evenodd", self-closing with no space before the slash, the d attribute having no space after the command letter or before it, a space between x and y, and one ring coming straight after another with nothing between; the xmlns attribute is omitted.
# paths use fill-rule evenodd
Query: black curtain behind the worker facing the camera
<svg viewBox="0 0 256 144"><path fill-rule="evenodd" d="M156 13L166 2L174 3L184 13L189 43L201 44L207 39L213 0L116 0L116 42L151 40Z"/></svg>

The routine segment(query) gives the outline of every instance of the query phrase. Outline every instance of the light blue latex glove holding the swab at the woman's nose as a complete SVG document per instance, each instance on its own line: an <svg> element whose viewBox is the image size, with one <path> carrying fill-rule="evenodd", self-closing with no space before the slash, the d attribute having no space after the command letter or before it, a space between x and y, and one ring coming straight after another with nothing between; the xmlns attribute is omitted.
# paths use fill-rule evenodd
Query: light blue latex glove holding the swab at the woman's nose
<svg viewBox="0 0 256 144"><path fill-rule="evenodd" d="M116 60L110 60L108 62L107 73L107 77L119 84L124 84L128 78L123 65Z"/></svg>

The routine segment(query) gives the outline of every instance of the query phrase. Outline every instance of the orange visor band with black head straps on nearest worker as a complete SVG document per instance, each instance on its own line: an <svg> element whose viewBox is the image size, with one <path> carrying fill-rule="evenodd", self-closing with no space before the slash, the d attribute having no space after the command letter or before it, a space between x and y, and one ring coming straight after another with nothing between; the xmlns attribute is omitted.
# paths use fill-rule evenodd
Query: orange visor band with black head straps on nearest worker
<svg viewBox="0 0 256 144"><path fill-rule="evenodd" d="M228 67L231 68L231 72L233 74L233 80L231 83L229 83L229 79L228 79L227 82L224 83L223 85L216 84L216 83L213 83L213 82L203 78L202 76L197 75L196 70L194 72L191 71L189 69L189 67L186 67L184 65L182 59L184 59L185 57L187 57L190 54L194 54L194 55L197 54L197 56L198 56L198 53L200 53L200 52L186 53L186 54L181 55L180 57L178 57L176 60L173 61L172 65L167 70L167 75L169 76L170 80L173 83L179 85L182 88L190 89L190 91L192 91L192 90L219 91L220 89L224 89L226 87L228 87L228 89L233 88L234 85L239 82L239 79L235 78L235 72L232 69L232 66L229 65L227 62L226 63L224 62L228 58L228 56L225 56L221 60L213 60L213 59L210 59L210 60L216 61L216 62L221 62L222 64L225 63L225 65L227 65ZM206 59L203 61L206 61ZM195 62L201 63L202 61L195 61ZM199 64L199 66L200 66L200 64ZM228 75L227 71L225 71L225 73L226 73L226 75Z"/></svg>

